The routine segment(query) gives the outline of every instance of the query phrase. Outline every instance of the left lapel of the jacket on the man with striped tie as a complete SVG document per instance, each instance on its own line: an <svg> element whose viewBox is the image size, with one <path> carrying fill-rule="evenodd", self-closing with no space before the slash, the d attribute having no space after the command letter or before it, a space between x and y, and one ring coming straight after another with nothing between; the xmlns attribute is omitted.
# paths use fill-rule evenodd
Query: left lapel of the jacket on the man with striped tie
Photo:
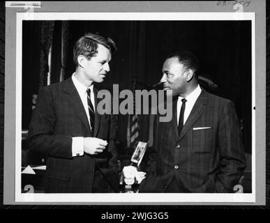
<svg viewBox="0 0 270 223"><path fill-rule="evenodd" d="M72 105L71 107L75 110L75 114L79 116L82 123L84 123L85 127L90 132L89 121L84 110L84 105L82 105L82 100L71 77L66 80L65 84L66 86L63 87L63 91L68 94L68 102L70 102L70 105Z"/></svg>

